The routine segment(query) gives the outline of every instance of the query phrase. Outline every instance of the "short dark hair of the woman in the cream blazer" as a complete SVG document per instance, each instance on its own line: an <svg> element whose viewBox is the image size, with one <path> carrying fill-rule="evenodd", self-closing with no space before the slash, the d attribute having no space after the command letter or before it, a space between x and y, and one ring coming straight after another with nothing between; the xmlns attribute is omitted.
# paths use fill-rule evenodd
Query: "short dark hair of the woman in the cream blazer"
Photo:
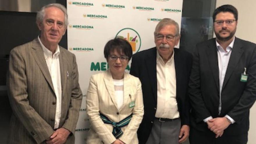
<svg viewBox="0 0 256 144"><path fill-rule="evenodd" d="M132 56L132 49L131 45L127 40L124 40L122 38L114 38L113 40L109 40L105 47L104 47L104 57L108 61L109 54L111 51L114 51L114 49L117 50L117 52L120 54L123 52L125 56L128 56L128 60L130 61Z"/></svg>

